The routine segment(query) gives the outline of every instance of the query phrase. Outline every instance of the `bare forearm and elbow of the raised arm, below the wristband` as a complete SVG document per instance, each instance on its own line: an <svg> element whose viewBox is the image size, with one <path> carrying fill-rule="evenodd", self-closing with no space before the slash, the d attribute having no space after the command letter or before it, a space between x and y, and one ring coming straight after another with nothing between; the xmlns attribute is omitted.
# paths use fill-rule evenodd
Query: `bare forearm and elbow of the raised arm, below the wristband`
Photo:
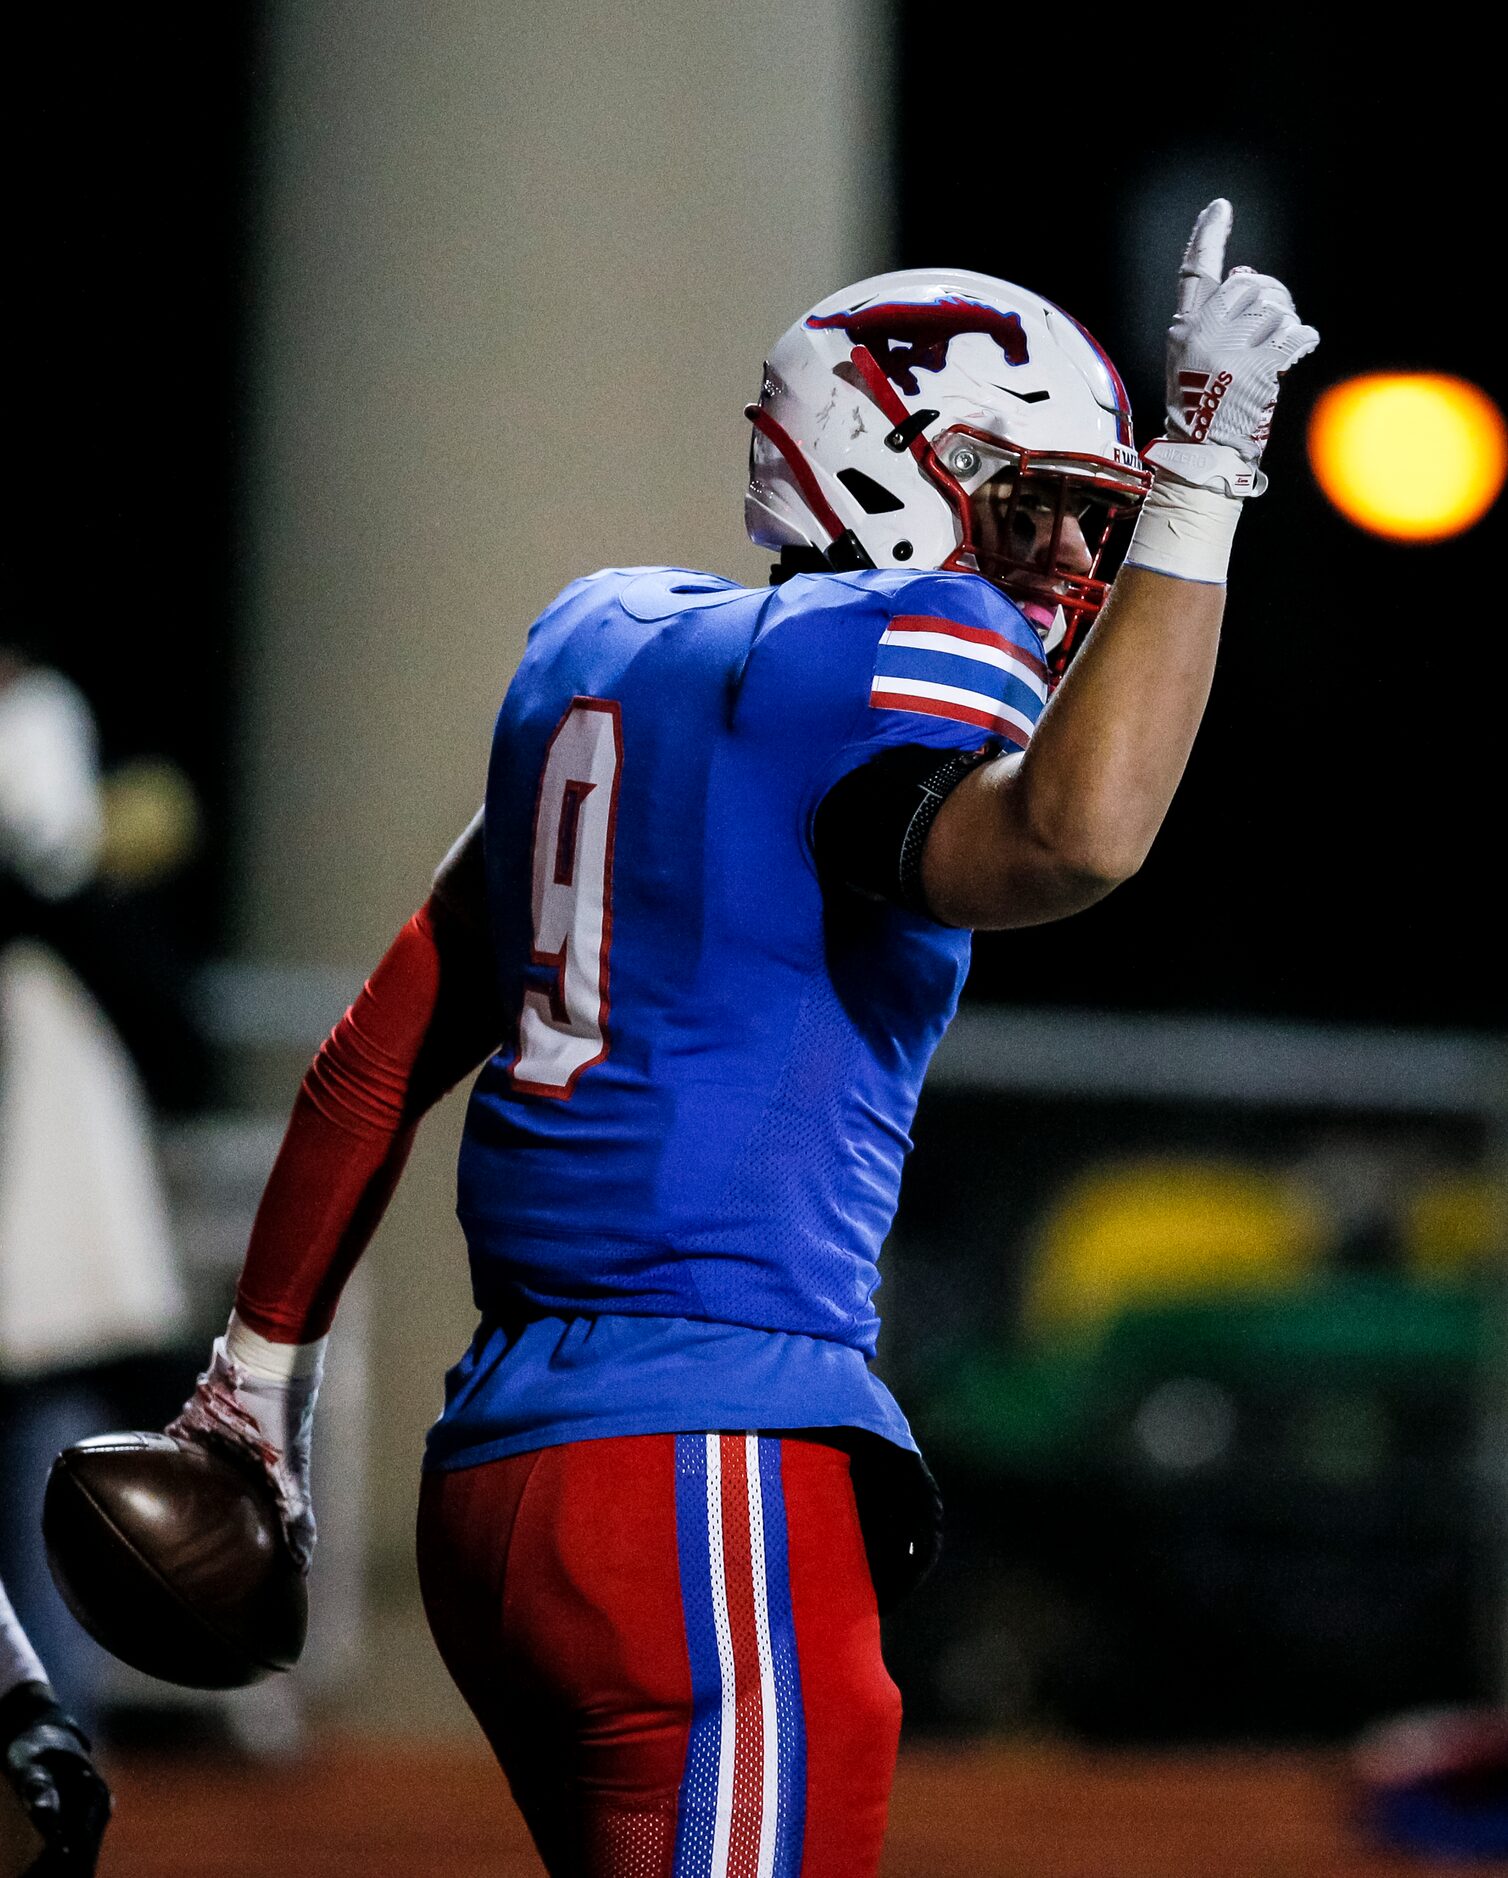
<svg viewBox="0 0 1508 1878"><path fill-rule="evenodd" d="M1224 588L1121 569L1022 757L946 800L922 864L950 926L1063 918L1147 856L1209 697Z"/></svg>

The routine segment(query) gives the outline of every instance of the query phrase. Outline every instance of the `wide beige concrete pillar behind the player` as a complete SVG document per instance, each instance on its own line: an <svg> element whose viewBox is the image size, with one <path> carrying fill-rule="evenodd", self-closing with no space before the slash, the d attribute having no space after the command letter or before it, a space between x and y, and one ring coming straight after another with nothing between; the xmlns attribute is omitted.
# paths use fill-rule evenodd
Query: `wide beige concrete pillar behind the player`
<svg viewBox="0 0 1508 1878"><path fill-rule="evenodd" d="M888 34L877 0L284 0L269 30L239 933L362 965L477 804L565 580L762 580L740 413L776 334L888 261ZM374 1251L392 1572L471 1322L458 1108Z"/></svg>

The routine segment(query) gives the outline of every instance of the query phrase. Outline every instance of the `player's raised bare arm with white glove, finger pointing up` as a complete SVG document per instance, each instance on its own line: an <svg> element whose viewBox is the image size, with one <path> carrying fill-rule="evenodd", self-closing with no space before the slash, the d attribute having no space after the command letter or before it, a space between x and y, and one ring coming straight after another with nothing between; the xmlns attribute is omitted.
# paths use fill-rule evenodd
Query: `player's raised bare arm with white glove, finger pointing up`
<svg viewBox="0 0 1508 1878"><path fill-rule="evenodd" d="M1183 776L1281 377L1318 344L1281 282L1223 278L1228 233L1217 199L1183 255L1168 436L1144 451L1155 485L1110 599L1027 751L969 774L931 824L922 888L950 926L1033 926L1093 905L1142 866Z"/></svg>

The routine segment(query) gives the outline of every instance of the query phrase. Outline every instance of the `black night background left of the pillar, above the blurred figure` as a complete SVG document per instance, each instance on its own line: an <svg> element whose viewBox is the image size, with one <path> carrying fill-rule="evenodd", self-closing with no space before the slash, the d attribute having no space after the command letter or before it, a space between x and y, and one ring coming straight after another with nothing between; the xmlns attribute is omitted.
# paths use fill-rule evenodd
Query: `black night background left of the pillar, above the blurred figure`
<svg viewBox="0 0 1508 1878"><path fill-rule="evenodd" d="M9 631L83 684L107 764L165 755L193 779L203 858L137 911L212 948L235 783L257 13L56 11L34 32L13 130Z"/></svg>

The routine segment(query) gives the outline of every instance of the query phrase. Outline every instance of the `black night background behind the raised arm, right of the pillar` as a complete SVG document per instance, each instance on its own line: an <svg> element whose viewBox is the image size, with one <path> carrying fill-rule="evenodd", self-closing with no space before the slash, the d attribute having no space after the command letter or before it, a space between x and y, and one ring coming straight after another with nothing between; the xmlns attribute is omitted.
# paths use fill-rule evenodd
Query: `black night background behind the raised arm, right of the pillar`
<svg viewBox="0 0 1508 1878"><path fill-rule="evenodd" d="M1380 75L1352 54L1337 83L1301 39L1281 56L1256 45L1221 56L1217 39L1194 34L1187 101L1170 64L1157 92L1132 88L1131 109L1099 113L1080 98L1040 135L1037 109L1007 109L997 152L960 171L939 126L954 54L930 9L905 21L900 265L962 255L1070 308L1121 362L1142 443L1161 426L1161 361L1127 357L1121 297L1144 265L1170 310L1183 239L1170 229L1174 246L1127 255L1142 192L1166 190L1179 171L1196 178L1174 223L1185 231L1208 195L1230 195L1228 261L1286 278L1320 331L1279 404L1264 458L1271 488L1236 539L1209 714L1146 870L1076 920L978 945L975 993L1500 1024L1489 759L1500 687L1489 663L1502 507L1450 543L1384 543L1330 507L1303 451L1318 394L1358 372L1452 372L1504 404L1484 257L1497 214L1485 86L1472 96L1459 71L1437 86L1429 51ZM1114 51L1093 41L1097 69ZM1018 73L1016 28L1003 17L993 38L980 28L973 56ZM978 115L969 124L982 128ZM1269 229L1266 246L1251 246L1254 220Z"/></svg>

